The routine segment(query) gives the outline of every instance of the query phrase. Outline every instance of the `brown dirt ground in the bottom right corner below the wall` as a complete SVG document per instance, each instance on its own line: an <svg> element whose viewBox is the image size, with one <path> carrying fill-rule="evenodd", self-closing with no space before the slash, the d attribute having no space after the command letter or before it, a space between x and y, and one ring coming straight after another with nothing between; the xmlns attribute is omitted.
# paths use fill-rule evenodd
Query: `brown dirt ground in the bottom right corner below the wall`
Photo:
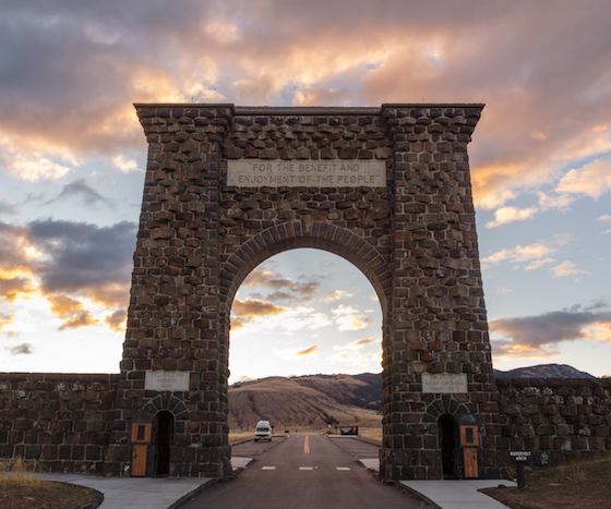
<svg viewBox="0 0 611 509"><path fill-rule="evenodd" d="M611 508L611 456L531 472L527 487L483 493L514 509Z"/></svg>

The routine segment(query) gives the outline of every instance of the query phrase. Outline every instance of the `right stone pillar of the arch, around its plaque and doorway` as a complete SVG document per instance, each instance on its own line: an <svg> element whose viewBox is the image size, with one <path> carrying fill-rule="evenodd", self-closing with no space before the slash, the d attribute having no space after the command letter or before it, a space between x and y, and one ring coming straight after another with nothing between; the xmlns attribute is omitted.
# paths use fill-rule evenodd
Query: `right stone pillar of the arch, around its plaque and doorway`
<svg viewBox="0 0 611 509"><path fill-rule="evenodd" d="M436 417L482 429L480 476L499 475L496 387L467 145L481 105L384 105L393 148L393 320L384 338L384 478L440 478ZM424 393L423 373L466 375L464 395Z"/></svg>

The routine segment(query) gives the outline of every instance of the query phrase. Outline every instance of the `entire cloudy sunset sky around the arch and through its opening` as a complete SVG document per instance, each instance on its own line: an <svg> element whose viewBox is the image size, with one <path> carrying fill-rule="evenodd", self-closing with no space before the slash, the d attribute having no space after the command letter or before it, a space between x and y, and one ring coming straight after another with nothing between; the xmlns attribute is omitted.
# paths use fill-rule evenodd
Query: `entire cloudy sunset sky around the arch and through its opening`
<svg viewBox="0 0 611 509"><path fill-rule="evenodd" d="M133 102L484 102L469 145L495 367L611 375L611 7L0 2L0 371L117 372L146 144ZM379 372L380 304L322 252L232 307L231 379Z"/></svg>

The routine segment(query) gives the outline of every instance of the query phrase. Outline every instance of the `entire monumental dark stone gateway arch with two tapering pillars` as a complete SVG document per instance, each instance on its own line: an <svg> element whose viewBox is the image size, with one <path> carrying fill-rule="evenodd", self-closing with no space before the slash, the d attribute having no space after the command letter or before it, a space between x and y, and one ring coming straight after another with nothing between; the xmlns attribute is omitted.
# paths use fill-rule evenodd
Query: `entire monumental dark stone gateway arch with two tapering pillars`
<svg viewBox="0 0 611 509"><path fill-rule="evenodd" d="M490 452L482 475L496 472L496 387L467 157L481 108L137 105L149 149L116 390L124 422L112 439L128 444L129 422L167 408L180 419L173 472L231 476L231 303L261 262L313 247L352 263L381 303L381 477L439 478L434 421L467 409ZM275 160L288 166L274 169ZM267 180L256 179L260 165L273 170ZM143 390L147 371L165 369L189 373L189 390L173 392L189 413L170 395L148 400ZM456 400L424 391L422 373L448 390L459 389L451 386L460 374L468 390Z"/></svg>

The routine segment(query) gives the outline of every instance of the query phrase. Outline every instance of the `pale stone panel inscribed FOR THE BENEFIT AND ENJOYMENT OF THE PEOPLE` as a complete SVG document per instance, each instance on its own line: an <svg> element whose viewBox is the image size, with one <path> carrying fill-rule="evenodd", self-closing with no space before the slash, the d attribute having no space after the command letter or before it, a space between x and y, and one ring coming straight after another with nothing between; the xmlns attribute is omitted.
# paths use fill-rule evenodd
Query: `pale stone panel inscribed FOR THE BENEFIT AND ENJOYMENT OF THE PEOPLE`
<svg viewBox="0 0 611 509"><path fill-rule="evenodd" d="M229 159L227 185L238 187L384 187L386 161L378 159Z"/></svg>

